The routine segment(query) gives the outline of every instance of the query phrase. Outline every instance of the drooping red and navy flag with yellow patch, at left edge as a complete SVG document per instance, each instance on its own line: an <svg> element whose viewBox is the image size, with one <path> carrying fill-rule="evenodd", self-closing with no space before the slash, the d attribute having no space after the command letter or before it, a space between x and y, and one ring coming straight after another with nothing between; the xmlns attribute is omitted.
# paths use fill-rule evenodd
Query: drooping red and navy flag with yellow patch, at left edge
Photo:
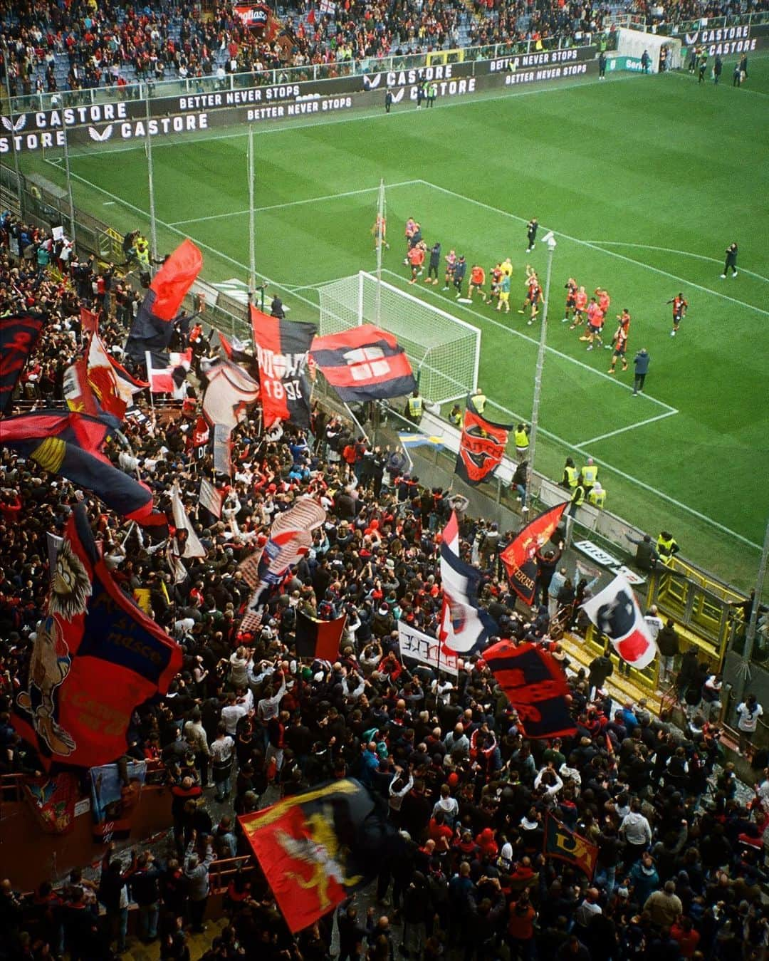
<svg viewBox="0 0 769 961"><path fill-rule="evenodd" d="M108 507L144 527L165 528L149 487L124 474L102 453L111 426L99 417L36 410L3 421L0 442L52 474L92 490Z"/></svg>

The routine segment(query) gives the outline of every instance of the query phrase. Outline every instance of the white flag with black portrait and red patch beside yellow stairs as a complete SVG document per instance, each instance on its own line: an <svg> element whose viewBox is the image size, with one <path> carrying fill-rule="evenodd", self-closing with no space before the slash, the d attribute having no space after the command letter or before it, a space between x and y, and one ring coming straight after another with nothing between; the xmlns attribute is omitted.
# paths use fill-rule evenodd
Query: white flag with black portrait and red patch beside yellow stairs
<svg viewBox="0 0 769 961"><path fill-rule="evenodd" d="M643 619L633 588L621 574L586 601L582 609L628 664L639 671L651 664L657 644Z"/></svg>

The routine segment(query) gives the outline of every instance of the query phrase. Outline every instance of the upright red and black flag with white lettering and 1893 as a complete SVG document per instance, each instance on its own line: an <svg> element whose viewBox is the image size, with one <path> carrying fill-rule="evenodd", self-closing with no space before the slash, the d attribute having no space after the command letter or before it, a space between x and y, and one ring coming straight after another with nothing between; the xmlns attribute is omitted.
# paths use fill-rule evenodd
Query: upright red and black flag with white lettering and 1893
<svg viewBox="0 0 769 961"><path fill-rule="evenodd" d="M270 317L253 305L251 324L259 361L264 429L269 430L276 421L309 427L306 369L315 326Z"/></svg>

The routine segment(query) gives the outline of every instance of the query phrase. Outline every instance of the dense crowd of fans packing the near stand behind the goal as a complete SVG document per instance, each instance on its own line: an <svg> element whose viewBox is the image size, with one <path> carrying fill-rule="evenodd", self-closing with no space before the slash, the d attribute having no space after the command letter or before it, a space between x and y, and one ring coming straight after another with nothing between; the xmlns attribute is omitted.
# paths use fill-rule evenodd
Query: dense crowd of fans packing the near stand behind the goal
<svg viewBox="0 0 769 961"><path fill-rule="evenodd" d="M49 314L19 400L60 402L81 303L100 311L100 332L118 349L137 295L111 267L73 251L62 257L62 246L10 215L0 244L0 314ZM765 957L769 770L748 803L733 767L716 766L718 725L695 689L706 675L685 672L698 679L685 685L691 709L682 731L644 702L614 703L604 688L611 661L596 658L589 672L568 670L576 734L527 739L482 659L460 662L457 678L407 665L397 622L436 633L440 531L458 507L461 551L481 572L498 636L541 644L566 670L548 633L556 552L539 555L538 599L521 611L499 576L510 535L466 516L443 490L423 488L402 452L372 448L320 408L309 434L286 428L265 442L254 421L239 429L217 521L197 503L212 468L192 456L195 417L189 401L170 420L142 405L124 427L130 463L113 452L138 467L161 508L172 481L180 483L206 554L185 561L187 577L176 583L165 552L96 499L8 452L0 460L0 771L39 767L13 730L10 706L44 610L46 533L62 532L72 505L84 501L113 577L129 594L149 588L153 616L183 649L168 695L132 718L127 749L164 771L167 856L140 850L129 859L110 846L95 881L74 872L62 888L46 882L29 897L12 877L2 881L0 957L60 957L66 948L73 959L104 961L125 949L133 903L139 936L159 938L162 958L184 961L185 930L204 928L213 859L249 852L235 815L342 776L357 777L399 832L397 856L378 873L376 904L349 899L294 938L249 865L229 884L229 923L206 957L324 959L335 925L339 958ZM261 626L243 631L249 588L238 564L303 493L324 505L326 522L269 597ZM587 583L558 573L559 606L586 596ZM298 611L347 614L335 663L297 659ZM598 846L591 880L543 858L549 814Z"/></svg>

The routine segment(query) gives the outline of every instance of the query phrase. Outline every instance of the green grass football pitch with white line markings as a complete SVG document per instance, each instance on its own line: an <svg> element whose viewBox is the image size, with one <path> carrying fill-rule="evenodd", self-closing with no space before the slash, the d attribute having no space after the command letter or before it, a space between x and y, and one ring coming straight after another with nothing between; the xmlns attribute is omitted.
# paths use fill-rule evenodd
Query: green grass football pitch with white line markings
<svg viewBox="0 0 769 961"><path fill-rule="evenodd" d="M731 62L724 78L731 83ZM687 73L616 75L568 86L439 102L255 130L259 275L280 286L293 319L316 320L317 286L373 270L380 178L388 239L383 279L477 326L479 382L491 416L531 416L538 326L517 312L524 267L544 278L547 250L525 253L525 223L557 248L550 288L537 468L559 478L565 456L600 464L607 507L652 533L672 530L685 556L735 584L755 579L769 510L769 59L747 86L698 86ZM204 278L247 279L246 133L154 141L161 250L181 236L204 252ZM26 160L26 159L25 159ZM75 201L119 231L148 230L144 145L73 150ZM60 157L34 164L62 177ZM408 286L403 224L414 216L487 271L513 260L512 311L457 304L453 290ZM739 273L720 279L739 244ZM631 370L589 353L563 324L564 284L612 296L632 316ZM443 281L443 277L442 277ZM679 291L689 308L670 336ZM642 396L632 358L647 348Z"/></svg>

